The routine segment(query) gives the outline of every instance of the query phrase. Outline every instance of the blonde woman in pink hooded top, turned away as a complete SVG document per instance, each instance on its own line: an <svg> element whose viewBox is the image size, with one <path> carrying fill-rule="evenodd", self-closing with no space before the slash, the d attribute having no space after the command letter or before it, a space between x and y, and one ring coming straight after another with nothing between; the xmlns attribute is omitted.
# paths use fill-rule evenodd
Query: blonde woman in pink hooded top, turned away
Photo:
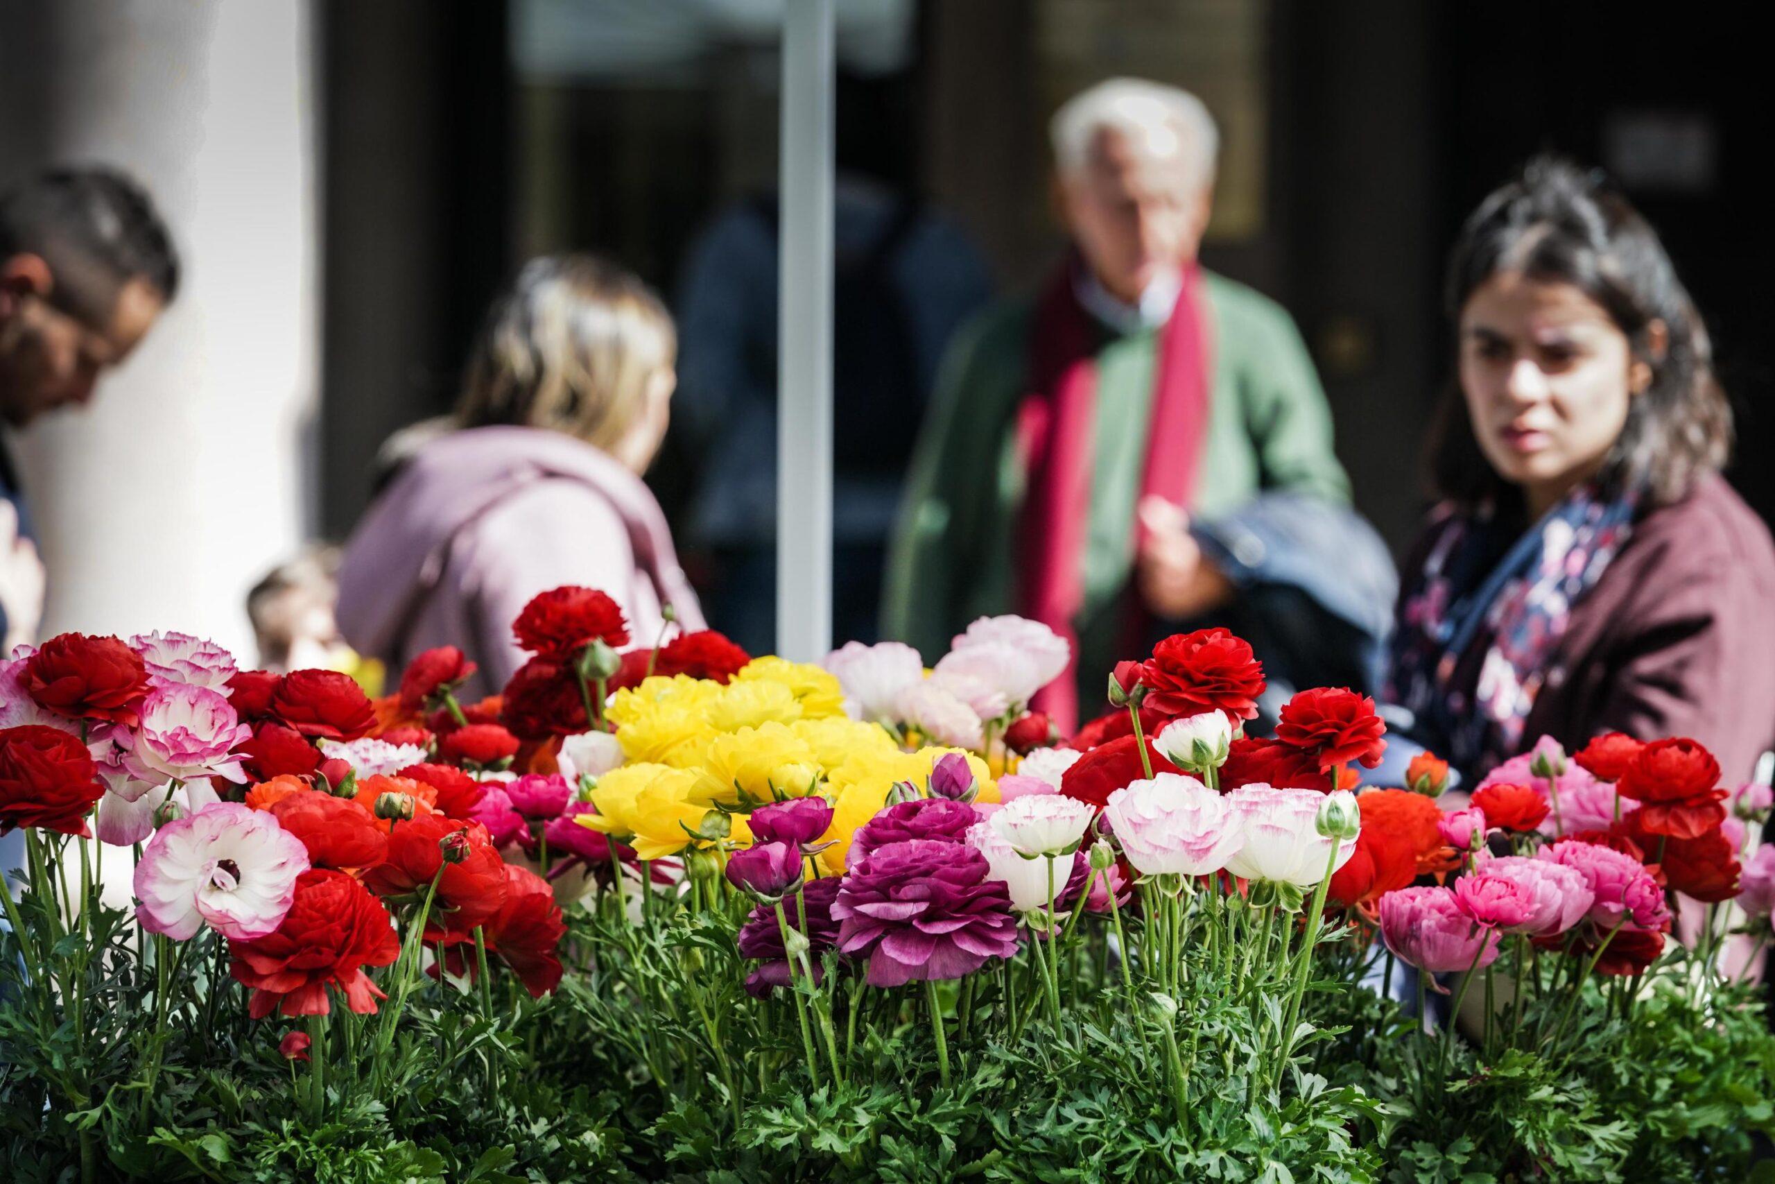
<svg viewBox="0 0 1775 1184"><path fill-rule="evenodd" d="M641 481L671 414L676 334L660 300L589 256L532 259L495 304L442 430L412 449L346 543L339 628L405 667L460 646L497 692L524 662L511 621L540 591L598 588L635 644L701 609Z"/></svg>

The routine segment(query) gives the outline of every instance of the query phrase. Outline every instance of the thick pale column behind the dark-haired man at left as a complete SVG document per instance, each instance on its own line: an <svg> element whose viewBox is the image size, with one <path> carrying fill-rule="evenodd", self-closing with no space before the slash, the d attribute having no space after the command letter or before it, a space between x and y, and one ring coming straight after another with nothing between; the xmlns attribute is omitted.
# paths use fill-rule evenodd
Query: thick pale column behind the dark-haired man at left
<svg viewBox="0 0 1775 1184"><path fill-rule="evenodd" d="M245 593L311 520L311 28L307 0L0 7L0 185L119 165L183 263L178 300L94 403L12 440L46 635L178 628L254 659Z"/></svg>

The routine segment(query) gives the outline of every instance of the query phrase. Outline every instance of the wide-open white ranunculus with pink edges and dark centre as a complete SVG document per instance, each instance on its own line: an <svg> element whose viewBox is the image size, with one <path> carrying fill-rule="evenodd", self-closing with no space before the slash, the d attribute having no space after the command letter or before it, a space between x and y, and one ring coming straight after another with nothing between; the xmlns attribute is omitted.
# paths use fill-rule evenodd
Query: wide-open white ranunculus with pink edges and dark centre
<svg viewBox="0 0 1775 1184"><path fill-rule="evenodd" d="M264 809L217 802L154 833L135 864L137 918L186 941L208 925L229 941L277 930L309 852Z"/></svg>

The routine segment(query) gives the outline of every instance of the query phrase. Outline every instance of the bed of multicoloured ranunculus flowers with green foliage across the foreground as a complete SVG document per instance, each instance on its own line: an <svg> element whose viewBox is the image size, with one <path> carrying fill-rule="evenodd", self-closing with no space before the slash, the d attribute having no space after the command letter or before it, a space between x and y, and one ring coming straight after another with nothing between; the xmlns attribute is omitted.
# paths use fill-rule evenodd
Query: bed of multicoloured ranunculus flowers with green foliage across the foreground
<svg viewBox="0 0 1775 1184"><path fill-rule="evenodd" d="M928 673L591 589L515 632L485 703L453 650L383 701L178 634L0 666L9 1179L1736 1180L1775 1127L1722 957L1768 795L1690 740L1443 809L1432 758L1353 792L1347 691L1242 735L1223 630L1065 746L1017 618Z"/></svg>

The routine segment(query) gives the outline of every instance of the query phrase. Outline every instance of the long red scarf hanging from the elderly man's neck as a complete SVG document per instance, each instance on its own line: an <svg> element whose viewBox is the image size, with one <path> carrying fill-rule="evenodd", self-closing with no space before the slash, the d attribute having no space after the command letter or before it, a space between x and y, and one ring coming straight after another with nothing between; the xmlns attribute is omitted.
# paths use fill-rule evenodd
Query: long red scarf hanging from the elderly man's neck
<svg viewBox="0 0 1775 1184"><path fill-rule="evenodd" d="M1030 337L1030 394L1017 415L1028 493L1021 522L1022 614L1072 646L1072 664L1035 696L1061 731L1077 726L1077 630L1085 605L1085 534L1092 504L1097 350L1102 330L1074 293L1074 266L1049 282ZM1159 330L1152 375L1152 430L1141 497L1187 506L1207 431L1211 348L1202 270L1184 272L1170 320ZM1131 533L1140 549L1140 525ZM1104 678L1109 671L1102 671Z"/></svg>

